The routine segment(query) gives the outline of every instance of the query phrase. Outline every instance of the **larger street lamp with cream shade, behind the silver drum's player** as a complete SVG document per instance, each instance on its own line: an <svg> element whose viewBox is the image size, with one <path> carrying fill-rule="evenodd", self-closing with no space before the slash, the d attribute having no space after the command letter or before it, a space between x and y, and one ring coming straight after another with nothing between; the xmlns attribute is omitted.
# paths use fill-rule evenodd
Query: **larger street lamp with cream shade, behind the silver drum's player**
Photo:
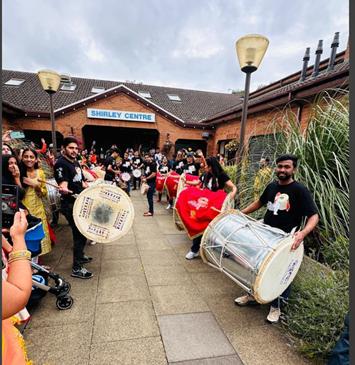
<svg viewBox="0 0 355 365"><path fill-rule="evenodd" d="M240 124L240 140L239 140L239 147L235 156L237 164L239 164L239 162L241 161L245 149L244 137L245 137L247 115L248 115L250 76L252 72L258 69L265 55L268 45L269 45L269 40L266 37L259 34L245 35L239 38L235 44L240 64L240 69L246 74L242 120Z"/></svg>

